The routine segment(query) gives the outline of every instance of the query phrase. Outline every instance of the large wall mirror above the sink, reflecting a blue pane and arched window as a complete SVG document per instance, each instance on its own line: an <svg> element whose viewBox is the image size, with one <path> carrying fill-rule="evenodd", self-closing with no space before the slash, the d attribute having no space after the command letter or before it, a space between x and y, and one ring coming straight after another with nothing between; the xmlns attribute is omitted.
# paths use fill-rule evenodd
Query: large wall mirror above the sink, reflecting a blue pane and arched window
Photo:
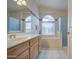
<svg viewBox="0 0 79 59"><path fill-rule="evenodd" d="M16 0L7 0L7 31L31 32L31 16L33 13L26 5L20 5Z"/></svg>

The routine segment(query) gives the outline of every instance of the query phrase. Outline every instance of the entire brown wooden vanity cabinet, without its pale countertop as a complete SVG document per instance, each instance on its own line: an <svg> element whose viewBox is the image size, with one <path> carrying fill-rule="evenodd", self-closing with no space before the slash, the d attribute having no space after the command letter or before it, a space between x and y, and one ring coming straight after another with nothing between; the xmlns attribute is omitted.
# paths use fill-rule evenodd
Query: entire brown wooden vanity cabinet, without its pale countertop
<svg viewBox="0 0 79 59"><path fill-rule="evenodd" d="M37 59L39 51L39 37L8 48L7 59Z"/></svg>

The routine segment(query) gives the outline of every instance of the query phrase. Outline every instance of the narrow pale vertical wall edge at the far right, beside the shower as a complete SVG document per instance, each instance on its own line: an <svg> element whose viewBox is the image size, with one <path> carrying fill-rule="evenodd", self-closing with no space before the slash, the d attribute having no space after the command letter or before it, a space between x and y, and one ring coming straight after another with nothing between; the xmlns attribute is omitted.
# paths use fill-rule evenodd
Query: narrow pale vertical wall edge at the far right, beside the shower
<svg viewBox="0 0 79 59"><path fill-rule="evenodd" d="M68 59L72 59L72 0L68 0Z"/></svg>

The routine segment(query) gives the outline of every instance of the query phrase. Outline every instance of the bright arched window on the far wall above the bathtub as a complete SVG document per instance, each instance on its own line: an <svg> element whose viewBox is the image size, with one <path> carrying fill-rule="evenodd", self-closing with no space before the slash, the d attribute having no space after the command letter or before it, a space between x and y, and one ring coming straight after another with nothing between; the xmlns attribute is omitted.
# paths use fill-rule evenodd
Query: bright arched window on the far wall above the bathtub
<svg viewBox="0 0 79 59"><path fill-rule="evenodd" d="M42 34L55 35L55 20L50 15L46 15L42 19Z"/></svg>

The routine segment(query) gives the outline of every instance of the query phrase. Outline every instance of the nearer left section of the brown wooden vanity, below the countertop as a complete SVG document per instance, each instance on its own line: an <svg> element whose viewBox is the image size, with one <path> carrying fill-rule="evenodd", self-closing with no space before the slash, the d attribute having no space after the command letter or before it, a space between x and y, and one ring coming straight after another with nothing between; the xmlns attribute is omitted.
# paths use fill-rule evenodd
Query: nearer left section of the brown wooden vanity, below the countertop
<svg viewBox="0 0 79 59"><path fill-rule="evenodd" d="M7 51L7 59L29 59L29 42L23 42Z"/></svg>

